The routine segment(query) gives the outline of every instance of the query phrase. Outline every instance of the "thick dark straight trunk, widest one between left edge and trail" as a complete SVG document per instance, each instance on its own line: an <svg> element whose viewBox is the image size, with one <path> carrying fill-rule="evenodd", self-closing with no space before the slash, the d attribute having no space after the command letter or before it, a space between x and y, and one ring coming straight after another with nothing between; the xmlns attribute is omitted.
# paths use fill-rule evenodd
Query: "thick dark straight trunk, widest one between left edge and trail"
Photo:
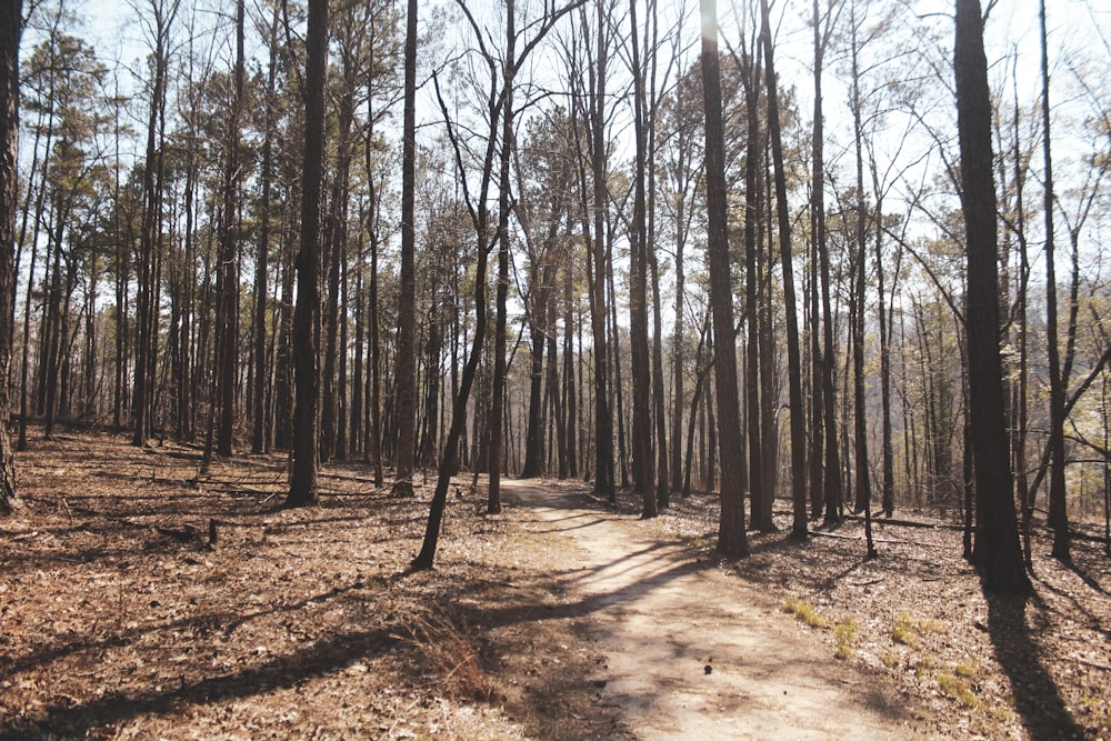
<svg viewBox="0 0 1111 741"><path fill-rule="evenodd" d="M416 0L410 0L414 2ZM324 164L324 79L328 0L309 0L304 62L304 166L301 169L301 248L293 308L292 450L287 507L317 502L317 405L320 400L320 191Z"/></svg>

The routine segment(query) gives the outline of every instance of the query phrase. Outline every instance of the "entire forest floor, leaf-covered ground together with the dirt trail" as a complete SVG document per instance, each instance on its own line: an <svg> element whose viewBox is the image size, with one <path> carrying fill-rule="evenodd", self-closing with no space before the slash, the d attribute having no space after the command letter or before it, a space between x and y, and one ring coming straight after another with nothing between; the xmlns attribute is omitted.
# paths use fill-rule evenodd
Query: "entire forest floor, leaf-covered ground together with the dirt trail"
<svg viewBox="0 0 1111 741"><path fill-rule="evenodd" d="M37 431L36 431L37 432ZM31 439L0 520L0 739L1111 739L1111 558L1034 541L1035 595L985 599L960 533L851 520L713 553L714 498L642 521L582 484L397 499L328 465L103 432ZM921 513L897 513L942 525ZM216 541L209 542L210 523ZM785 693L785 694L784 694Z"/></svg>

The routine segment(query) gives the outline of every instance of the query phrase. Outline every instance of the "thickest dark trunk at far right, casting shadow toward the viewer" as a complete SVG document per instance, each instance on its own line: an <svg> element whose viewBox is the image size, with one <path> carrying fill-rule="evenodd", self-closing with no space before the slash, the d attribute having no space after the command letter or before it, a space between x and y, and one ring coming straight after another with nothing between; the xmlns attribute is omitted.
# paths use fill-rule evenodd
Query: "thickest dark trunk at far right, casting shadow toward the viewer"
<svg viewBox="0 0 1111 741"><path fill-rule="evenodd" d="M957 127L968 259L969 407L975 463L973 560L990 592L1027 593L1003 418L991 94L979 0L957 0Z"/></svg>

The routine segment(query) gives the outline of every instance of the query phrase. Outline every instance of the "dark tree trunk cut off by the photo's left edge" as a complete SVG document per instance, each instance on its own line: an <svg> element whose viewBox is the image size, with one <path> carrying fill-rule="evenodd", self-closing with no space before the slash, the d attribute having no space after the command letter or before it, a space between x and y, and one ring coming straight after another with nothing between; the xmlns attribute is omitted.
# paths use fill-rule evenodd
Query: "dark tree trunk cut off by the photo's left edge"
<svg viewBox="0 0 1111 741"><path fill-rule="evenodd" d="M20 507L16 458L8 434L11 403L12 312L16 301L16 210L19 153L19 40L22 0L0 0L0 514Z"/></svg>

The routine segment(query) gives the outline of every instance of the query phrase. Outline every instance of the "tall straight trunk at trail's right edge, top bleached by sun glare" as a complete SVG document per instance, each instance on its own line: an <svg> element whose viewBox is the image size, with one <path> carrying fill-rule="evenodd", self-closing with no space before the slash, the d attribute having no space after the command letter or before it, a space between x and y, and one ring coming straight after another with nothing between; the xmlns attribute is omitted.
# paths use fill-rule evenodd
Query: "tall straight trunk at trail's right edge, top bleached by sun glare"
<svg viewBox="0 0 1111 741"><path fill-rule="evenodd" d="M705 99L705 182L710 261L710 303L713 312L714 385L718 391L718 449L721 459L721 517L718 552L749 555L744 533L744 491L741 489L744 450L741 447L741 403L737 390L737 350L733 342L732 281L725 201L725 141L721 121L721 70L718 62L718 7L701 0L702 94Z"/></svg>

